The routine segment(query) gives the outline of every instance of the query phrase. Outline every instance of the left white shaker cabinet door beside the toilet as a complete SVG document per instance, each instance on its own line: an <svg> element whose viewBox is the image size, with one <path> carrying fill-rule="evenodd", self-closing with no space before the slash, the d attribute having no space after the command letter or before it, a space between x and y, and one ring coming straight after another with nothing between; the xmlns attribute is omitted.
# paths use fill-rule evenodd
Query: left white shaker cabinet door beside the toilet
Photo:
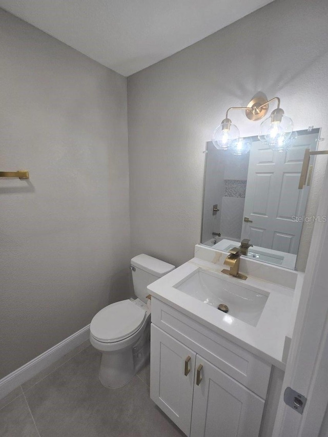
<svg viewBox="0 0 328 437"><path fill-rule="evenodd" d="M190 435L195 359L195 352L151 325L150 397L187 435Z"/></svg>

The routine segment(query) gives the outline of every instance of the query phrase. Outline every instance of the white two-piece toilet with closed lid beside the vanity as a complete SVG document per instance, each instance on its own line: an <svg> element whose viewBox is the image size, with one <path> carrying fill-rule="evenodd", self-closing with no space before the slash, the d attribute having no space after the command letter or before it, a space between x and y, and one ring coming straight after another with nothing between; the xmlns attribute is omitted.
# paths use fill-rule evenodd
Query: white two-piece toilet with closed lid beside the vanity
<svg viewBox="0 0 328 437"><path fill-rule="evenodd" d="M148 255L131 260L137 299L112 303L90 325L90 342L101 352L99 379L105 387L121 387L144 365L150 352L150 302L147 285L175 267Z"/></svg>

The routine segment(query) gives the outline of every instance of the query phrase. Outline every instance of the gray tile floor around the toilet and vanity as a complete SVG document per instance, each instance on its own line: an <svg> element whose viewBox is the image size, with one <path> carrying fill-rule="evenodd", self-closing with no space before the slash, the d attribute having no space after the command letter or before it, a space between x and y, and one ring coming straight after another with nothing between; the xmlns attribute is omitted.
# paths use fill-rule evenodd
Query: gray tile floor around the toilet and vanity
<svg viewBox="0 0 328 437"><path fill-rule="evenodd" d="M100 353L85 343L0 401L1 437L176 437L149 397L149 364L127 385L98 380Z"/></svg>

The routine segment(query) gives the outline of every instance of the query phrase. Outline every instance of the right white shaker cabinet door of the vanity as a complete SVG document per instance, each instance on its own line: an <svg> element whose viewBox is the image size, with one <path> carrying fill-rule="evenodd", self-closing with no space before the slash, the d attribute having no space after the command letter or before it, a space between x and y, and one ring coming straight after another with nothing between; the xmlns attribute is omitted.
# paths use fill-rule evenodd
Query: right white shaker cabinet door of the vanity
<svg viewBox="0 0 328 437"><path fill-rule="evenodd" d="M264 401L199 355L193 399L191 437L258 436Z"/></svg>

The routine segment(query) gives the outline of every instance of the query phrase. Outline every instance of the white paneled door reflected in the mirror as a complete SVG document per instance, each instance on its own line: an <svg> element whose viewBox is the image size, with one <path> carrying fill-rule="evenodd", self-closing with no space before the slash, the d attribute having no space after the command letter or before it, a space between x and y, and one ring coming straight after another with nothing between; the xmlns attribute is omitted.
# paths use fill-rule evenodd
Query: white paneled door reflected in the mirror
<svg viewBox="0 0 328 437"><path fill-rule="evenodd" d="M298 189L306 148L316 149L317 134L301 135L288 152L273 152L254 141L250 154L241 239L297 255L309 186Z"/></svg>

